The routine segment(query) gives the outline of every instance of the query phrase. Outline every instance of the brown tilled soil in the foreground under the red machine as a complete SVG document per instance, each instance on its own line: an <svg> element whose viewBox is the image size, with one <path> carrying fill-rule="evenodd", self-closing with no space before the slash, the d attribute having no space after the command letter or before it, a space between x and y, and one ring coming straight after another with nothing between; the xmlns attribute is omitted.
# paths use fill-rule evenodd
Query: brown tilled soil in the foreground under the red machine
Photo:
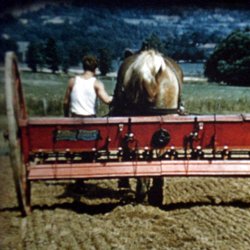
<svg viewBox="0 0 250 250"><path fill-rule="evenodd" d="M249 249L250 179L165 178L161 207L117 180L32 184L21 217L7 155L0 164L0 249Z"/></svg>

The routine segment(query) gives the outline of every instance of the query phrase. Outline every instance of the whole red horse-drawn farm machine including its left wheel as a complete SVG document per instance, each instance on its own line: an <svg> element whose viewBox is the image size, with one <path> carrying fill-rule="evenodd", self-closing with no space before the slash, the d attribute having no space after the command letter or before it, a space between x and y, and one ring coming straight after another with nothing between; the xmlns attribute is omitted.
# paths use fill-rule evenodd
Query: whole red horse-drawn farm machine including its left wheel
<svg viewBox="0 0 250 250"><path fill-rule="evenodd" d="M24 215L33 181L250 175L250 114L29 117L12 52L5 87L10 160Z"/></svg>

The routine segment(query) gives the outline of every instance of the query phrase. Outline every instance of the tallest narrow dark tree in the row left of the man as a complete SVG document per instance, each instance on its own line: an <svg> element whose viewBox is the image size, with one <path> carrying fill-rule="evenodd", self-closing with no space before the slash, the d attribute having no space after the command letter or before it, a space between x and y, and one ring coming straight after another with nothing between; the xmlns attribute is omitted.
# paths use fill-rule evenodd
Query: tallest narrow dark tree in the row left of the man
<svg viewBox="0 0 250 250"><path fill-rule="evenodd" d="M56 41L49 38L45 46L45 60L47 67L55 73L59 69L59 54Z"/></svg>

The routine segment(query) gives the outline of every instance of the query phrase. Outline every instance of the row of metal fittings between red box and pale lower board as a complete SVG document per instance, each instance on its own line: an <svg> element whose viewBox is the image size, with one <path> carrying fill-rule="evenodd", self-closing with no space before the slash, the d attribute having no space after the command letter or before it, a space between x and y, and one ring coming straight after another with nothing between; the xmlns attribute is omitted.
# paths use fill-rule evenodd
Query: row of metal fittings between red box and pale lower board
<svg viewBox="0 0 250 250"><path fill-rule="evenodd" d="M230 150L227 146L221 149L203 149L197 146L193 149L177 149L171 146L168 149L123 149L97 150L93 148L87 152L74 152L70 149L57 152L38 150L30 154L30 161L36 163L51 162L102 162L102 161L155 161L155 160L230 160L250 159L250 149Z"/></svg>

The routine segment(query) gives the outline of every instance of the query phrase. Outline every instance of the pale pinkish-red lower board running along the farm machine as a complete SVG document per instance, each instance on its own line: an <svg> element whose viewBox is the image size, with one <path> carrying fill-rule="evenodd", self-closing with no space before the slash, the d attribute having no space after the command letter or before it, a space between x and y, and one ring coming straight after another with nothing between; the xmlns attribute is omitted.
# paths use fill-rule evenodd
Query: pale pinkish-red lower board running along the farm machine
<svg viewBox="0 0 250 250"><path fill-rule="evenodd" d="M176 160L33 165L29 180L137 176L250 176L250 160Z"/></svg>

